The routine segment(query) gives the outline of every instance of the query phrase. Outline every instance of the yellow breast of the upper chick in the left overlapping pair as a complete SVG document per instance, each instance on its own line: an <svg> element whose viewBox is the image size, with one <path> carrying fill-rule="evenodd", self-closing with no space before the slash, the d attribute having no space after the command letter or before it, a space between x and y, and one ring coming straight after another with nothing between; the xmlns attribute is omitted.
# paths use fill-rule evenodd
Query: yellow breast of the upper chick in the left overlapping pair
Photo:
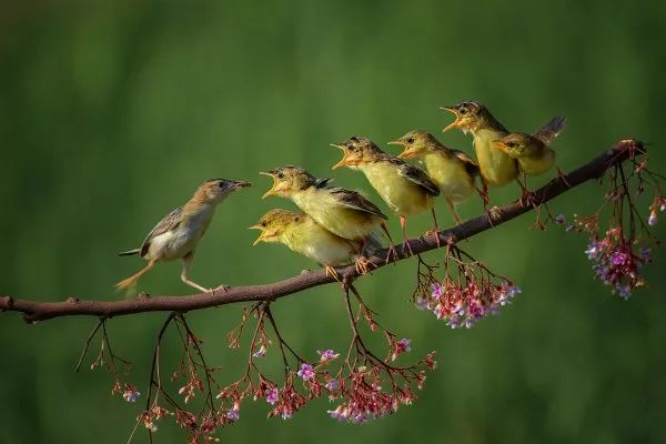
<svg viewBox="0 0 666 444"><path fill-rule="evenodd" d="M307 189L294 193L294 203L332 233L353 240L363 240L382 219L362 210L342 204L329 190Z"/></svg>

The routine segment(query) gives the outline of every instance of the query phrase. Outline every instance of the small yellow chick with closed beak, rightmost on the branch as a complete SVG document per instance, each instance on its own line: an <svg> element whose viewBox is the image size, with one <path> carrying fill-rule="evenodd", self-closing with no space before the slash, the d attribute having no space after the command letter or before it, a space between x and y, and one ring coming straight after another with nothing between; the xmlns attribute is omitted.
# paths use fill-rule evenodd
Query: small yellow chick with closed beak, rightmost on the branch
<svg viewBox="0 0 666 444"><path fill-rule="evenodd" d="M494 140L492 148L504 152L518 162L518 169L526 175L541 175L555 165L555 151L548 145L564 129L565 118L553 118L533 135L512 132ZM557 167L556 167L557 168ZM564 174L557 168L558 175Z"/></svg>

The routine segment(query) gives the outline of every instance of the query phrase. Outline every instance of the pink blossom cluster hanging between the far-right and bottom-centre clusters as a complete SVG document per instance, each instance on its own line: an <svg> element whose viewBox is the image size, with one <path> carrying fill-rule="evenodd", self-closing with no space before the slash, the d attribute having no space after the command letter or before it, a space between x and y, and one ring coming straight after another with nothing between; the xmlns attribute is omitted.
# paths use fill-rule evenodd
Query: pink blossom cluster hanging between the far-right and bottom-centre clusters
<svg viewBox="0 0 666 444"><path fill-rule="evenodd" d="M471 329L488 314L497 314L518 293L521 287L508 281L496 285L487 280L470 280L462 285L446 279L444 284L432 284L431 294L417 299L416 306L433 312L452 329Z"/></svg>

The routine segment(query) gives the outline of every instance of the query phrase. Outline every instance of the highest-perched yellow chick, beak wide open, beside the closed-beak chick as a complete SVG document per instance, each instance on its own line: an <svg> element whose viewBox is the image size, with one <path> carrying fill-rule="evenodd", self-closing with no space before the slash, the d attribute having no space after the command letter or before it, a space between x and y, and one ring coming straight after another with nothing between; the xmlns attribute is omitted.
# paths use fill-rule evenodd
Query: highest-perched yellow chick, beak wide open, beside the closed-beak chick
<svg viewBox="0 0 666 444"><path fill-rule="evenodd" d="M474 151L483 184L482 198L484 206L487 208L488 185L503 186L518 176L518 168L514 159L500 150L491 150L491 143L508 134L508 131L484 104L478 102L461 102L440 109L455 115L455 121L444 128L442 132L457 128L465 134L471 132L474 138Z"/></svg>

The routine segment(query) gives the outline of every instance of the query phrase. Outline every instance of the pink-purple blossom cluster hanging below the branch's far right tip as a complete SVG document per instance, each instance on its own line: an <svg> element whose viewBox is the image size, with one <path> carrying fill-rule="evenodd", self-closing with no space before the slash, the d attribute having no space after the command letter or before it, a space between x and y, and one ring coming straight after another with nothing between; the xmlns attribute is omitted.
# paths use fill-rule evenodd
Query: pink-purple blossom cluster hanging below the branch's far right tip
<svg viewBox="0 0 666 444"><path fill-rule="evenodd" d="M635 243L624 238L622 228L606 231L601 240L592 236L585 254L593 262L596 276L610 285L613 293L620 297L628 299L634 289L645 284L638 269L650 262L650 250L636 248Z"/></svg>

